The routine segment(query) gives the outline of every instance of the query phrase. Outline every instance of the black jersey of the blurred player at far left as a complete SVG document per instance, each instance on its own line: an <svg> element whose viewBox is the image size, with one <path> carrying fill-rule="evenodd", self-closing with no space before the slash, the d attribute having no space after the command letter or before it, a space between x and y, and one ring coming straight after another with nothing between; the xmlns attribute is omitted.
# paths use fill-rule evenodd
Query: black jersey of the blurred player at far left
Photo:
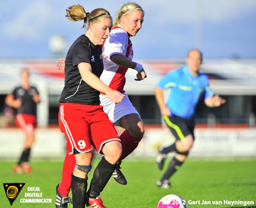
<svg viewBox="0 0 256 208"><path fill-rule="evenodd" d="M14 99L20 99L22 105L16 111L16 114L32 114L36 115L36 102L33 100L34 94L39 94L34 86L30 86L29 90L25 90L21 86L16 87L12 92Z"/></svg>

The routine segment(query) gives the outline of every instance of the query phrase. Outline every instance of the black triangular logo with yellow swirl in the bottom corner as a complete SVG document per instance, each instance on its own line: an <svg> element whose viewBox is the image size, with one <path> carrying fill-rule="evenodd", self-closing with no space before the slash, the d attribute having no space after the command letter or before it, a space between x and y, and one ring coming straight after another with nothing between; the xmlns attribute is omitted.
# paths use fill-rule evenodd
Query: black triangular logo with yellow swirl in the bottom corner
<svg viewBox="0 0 256 208"><path fill-rule="evenodd" d="M18 194L22 190L25 183L3 183L4 190L7 198L9 199L10 204L14 202L17 198Z"/></svg>

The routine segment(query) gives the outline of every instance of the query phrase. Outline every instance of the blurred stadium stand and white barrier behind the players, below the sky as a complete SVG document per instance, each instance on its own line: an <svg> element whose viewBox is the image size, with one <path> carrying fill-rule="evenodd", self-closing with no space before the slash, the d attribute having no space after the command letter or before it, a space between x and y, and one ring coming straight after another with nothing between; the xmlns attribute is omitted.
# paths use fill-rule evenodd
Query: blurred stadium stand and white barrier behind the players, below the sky
<svg viewBox="0 0 256 208"><path fill-rule="evenodd" d="M27 67L31 84L39 92L38 129L32 158L63 158L65 138L58 129L58 99L64 73L57 70L58 59L0 60L0 158L16 158L20 154L23 135L15 128L13 110L4 104L6 94L19 83L19 71ZM154 157L159 145L172 142L163 124L154 98L154 84L168 71L184 65L184 59L141 59L148 78L134 81L135 71L126 75L125 90L146 125L145 136L130 157ZM196 111L196 142L190 157L256 157L256 60L205 59L201 71L208 74L210 86L227 103L207 108L203 102ZM118 128L118 132L122 132Z"/></svg>

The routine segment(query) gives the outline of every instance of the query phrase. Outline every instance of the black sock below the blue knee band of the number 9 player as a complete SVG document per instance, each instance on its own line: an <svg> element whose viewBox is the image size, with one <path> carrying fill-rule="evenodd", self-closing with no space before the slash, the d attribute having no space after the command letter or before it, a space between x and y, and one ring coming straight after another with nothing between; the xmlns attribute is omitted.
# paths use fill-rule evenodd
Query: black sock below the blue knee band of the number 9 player
<svg viewBox="0 0 256 208"><path fill-rule="evenodd" d="M86 204L86 190L87 190L87 177L82 179L71 175L71 191L72 191L72 201L73 207L84 208Z"/></svg>

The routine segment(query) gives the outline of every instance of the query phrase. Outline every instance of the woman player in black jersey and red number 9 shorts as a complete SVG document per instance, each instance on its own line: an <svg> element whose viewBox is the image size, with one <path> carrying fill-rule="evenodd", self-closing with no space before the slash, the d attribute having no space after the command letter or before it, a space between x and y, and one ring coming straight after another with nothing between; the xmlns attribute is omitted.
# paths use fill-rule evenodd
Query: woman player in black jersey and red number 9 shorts
<svg viewBox="0 0 256 208"><path fill-rule="evenodd" d="M87 26L87 31L74 41L66 55L65 85L59 100L58 120L60 130L67 139L68 152L62 182L56 187L56 208L65 208L70 202L70 179L73 207L90 205L106 208L99 195L116 169L122 144L114 125L100 106L99 95L100 91L104 92L113 103L119 103L124 98L122 93L112 90L100 80L104 69L101 45L110 34L112 18L105 9L98 8L86 13L80 5L73 5L66 12L66 17L71 21L83 20L83 27ZM92 146L104 156L94 171L87 191ZM65 186L67 182L68 190Z"/></svg>

